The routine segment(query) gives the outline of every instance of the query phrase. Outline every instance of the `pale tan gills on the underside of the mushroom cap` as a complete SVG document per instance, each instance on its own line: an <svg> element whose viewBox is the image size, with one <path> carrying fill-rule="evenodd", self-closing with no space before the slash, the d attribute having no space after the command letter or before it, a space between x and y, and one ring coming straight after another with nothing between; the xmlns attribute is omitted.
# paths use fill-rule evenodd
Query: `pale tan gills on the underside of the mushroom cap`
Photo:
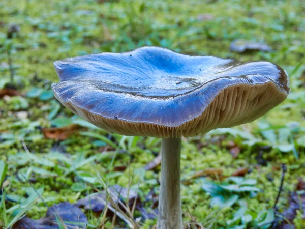
<svg viewBox="0 0 305 229"><path fill-rule="evenodd" d="M273 82L233 85L223 89L201 115L176 127L105 118L70 102L65 103L56 94L55 97L76 115L109 132L127 136L176 138L252 122L284 101L287 94L281 92Z"/></svg>

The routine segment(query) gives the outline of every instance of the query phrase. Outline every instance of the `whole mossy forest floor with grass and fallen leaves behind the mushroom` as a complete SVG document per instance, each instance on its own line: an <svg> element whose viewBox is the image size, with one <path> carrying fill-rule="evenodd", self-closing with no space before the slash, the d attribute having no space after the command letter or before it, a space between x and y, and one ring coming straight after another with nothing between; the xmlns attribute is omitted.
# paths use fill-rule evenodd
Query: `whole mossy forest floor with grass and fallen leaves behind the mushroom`
<svg viewBox="0 0 305 229"><path fill-rule="evenodd" d="M51 90L55 60L152 45L270 61L290 77L257 121L182 138L185 227L305 228L304 15L297 0L1 1L0 228L156 223L161 140L100 130ZM247 43L257 50L233 51Z"/></svg>

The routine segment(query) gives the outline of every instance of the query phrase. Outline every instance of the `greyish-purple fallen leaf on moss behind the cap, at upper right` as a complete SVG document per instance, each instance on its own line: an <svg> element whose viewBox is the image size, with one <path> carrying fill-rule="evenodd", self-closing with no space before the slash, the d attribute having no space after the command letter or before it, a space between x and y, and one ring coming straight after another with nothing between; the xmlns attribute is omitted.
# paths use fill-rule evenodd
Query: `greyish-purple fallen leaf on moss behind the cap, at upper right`
<svg viewBox="0 0 305 229"><path fill-rule="evenodd" d="M253 51L271 51L271 48L263 42L253 42L247 40L235 40L230 45L230 50L235 52Z"/></svg>

